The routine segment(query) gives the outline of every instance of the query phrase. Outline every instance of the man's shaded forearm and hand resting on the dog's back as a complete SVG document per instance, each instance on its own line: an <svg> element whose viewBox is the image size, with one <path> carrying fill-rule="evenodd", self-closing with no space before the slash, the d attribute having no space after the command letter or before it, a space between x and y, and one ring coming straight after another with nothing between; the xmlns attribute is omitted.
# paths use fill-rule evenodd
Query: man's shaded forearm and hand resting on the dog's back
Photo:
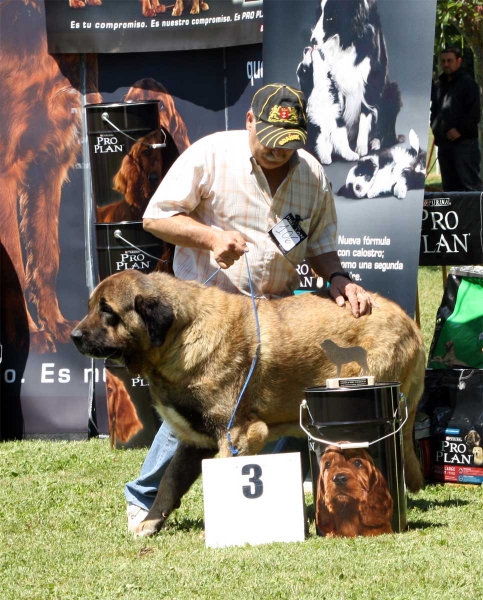
<svg viewBox="0 0 483 600"><path fill-rule="evenodd" d="M307 258L309 265L317 275L329 281L332 273L343 271L337 252L326 252L312 258ZM373 306L377 306L364 288L352 283L344 276L336 275L330 282L329 293L339 306L345 305L345 299L349 301L354 317L359 317L371 312Z"/></svg>

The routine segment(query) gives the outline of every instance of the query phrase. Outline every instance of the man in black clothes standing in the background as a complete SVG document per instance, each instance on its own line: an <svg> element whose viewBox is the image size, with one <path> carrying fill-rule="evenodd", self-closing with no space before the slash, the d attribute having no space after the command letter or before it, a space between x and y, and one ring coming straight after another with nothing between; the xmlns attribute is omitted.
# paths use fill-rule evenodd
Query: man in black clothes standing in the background
<svg viewBox="0 0 483 600"><path fill-rule="evenodd" d="M462 70L462 60L458 48L443 50L443 73L431 92L431 129L445 192L483 189L478 144L480 92Z"/></svg>

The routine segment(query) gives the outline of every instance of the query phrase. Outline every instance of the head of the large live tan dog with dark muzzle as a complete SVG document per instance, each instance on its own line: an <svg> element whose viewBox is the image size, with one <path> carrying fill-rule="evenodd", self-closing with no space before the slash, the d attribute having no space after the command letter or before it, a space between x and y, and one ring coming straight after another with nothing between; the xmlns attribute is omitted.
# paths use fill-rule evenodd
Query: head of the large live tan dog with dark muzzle
<svg viewBox="0 0 483 600"><path fill-rule="evenodd" d="M162 346L174 322L172 305L162 293L164 278L171 276L130 270L104 279L91 294L87 316L71 333L79 352L129 369Z"/></svg>

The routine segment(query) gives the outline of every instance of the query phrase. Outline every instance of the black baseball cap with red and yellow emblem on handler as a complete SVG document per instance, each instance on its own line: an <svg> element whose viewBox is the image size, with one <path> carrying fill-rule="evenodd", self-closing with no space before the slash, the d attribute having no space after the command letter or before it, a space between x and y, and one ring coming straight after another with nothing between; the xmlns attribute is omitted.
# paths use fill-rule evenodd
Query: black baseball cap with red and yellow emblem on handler
<svg viewBox="0 0 483 600"><path fill-rule="evenodd" d="M303 92L270 83L252 100L258 141L267 148L297 150L307 141L307 103Z"/></svg>

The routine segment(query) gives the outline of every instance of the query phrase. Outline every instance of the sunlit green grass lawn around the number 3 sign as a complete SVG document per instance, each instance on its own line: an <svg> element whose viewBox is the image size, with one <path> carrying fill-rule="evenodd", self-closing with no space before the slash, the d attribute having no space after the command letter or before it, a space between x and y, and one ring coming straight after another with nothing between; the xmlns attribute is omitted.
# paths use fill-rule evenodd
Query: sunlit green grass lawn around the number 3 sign
<svg viewBox="0 0 483 600"><path fill-rule="evenodd" d="M420 269L427 347L442 290L441 269ZM0 444L1 600L483 596L482 486L410 494L407 532L357 539L318 537L308 494L305 542L213 550L200 481L160 535L128 534L123 484L145 453L113 451L107 440Z"/></svg>

